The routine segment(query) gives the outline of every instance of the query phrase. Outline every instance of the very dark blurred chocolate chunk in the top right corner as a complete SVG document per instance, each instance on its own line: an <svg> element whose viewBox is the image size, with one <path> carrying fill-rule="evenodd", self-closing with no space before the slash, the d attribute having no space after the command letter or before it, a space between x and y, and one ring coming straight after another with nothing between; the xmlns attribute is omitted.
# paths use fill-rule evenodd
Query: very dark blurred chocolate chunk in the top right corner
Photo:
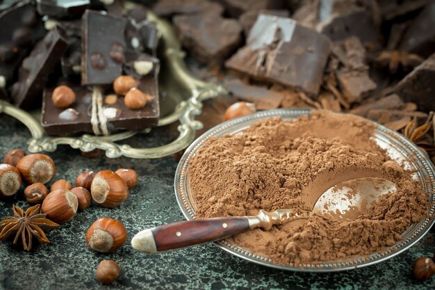
<svg viewBox="0 0 435 290"><path fill-rule="evenodd" d="M422 10L402 38L399 50L427 58L435 52L435 1Z"/></svg>

